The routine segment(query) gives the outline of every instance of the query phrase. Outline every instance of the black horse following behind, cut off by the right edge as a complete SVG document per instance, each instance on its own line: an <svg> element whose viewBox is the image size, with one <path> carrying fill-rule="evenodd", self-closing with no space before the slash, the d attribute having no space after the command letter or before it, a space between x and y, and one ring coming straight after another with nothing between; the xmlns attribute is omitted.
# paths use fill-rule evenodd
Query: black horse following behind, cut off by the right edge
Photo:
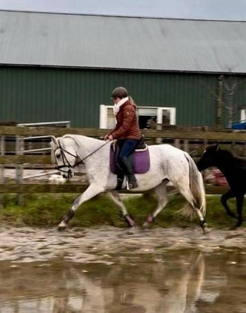
<svg viewBox="0 0 246 313"><path fill-rule="evenodd" d="M221 203L228 215L238 219L234 228L242 224L243 198L246 192L246 159L235 156L228 150L221 150L218 145L208 147L197 163L198 169L205 170L210 166L216 166L225 175L230 190L221 196ZM236 197L236 209L238 216L227 205L227 200Z"/></svg>

